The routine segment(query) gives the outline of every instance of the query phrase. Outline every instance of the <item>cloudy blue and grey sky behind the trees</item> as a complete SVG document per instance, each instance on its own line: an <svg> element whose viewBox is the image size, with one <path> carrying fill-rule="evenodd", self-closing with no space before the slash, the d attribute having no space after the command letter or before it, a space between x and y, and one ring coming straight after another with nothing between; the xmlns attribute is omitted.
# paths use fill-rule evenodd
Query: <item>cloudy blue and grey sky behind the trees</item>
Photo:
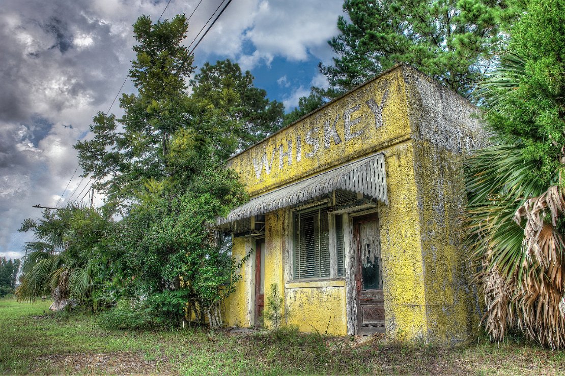
<svg viewBox="0 0 565 376"><path fill-rule="evenodd" d="M78 166L73 145L92 136L92 117L107 110L127 75L132 24L142 14L158 19L167 1L2 2L0 256L23 255L32 238L17 229L41 215L32 205L66 205L88 184L80 167L71 179ZM198 2L171 0L163 18L188 16ZM202 1L186 41L220 2ZM232 0L195 50L195 62L236 61L255 76L255 86L292 110L312 85L325 85L318 63L331 62L327 41L338 33L341 7L342 0ZM128 81L123 92L132 91ZM117 105L112 112L121 115ZM94 202L101 205L102 197Z"/></svg>

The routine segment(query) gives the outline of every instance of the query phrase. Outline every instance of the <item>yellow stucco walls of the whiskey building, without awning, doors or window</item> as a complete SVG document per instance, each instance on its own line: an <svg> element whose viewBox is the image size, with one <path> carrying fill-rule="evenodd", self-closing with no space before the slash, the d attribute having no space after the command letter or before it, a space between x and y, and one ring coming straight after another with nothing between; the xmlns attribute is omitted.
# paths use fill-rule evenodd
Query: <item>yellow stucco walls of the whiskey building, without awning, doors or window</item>
<svg viewBox="0 0 565 376"><path fill-rule="evenodd" d="M386 332L424 342L469 340L473 286L459 228L462 162L484 134L475 108L400 66L325 105L230 161L250 196L374 152L385 154L388 205L379 203ZM316 144L318 145L316 147ZM291 281L292 213L266 216L265 285L277 283L302 331L347 334L346 281ZM251 240L234 241L241 257ZM227 325L253 321L254 255L226 300ZM329 326L328 326L329 323ZM312 325L312 326L311 326Z"/></svg>

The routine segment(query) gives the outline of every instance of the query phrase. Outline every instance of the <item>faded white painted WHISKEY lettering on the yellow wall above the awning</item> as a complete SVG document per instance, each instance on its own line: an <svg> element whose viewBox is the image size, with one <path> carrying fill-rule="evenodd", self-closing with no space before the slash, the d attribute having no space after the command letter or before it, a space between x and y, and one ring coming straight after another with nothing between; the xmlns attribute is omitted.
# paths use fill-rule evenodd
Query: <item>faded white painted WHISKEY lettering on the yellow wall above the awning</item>
<svg viewBox="0 0 565 376"><path fill-rule="evenodd" d="M342 114L338 113L336 117L323 121L321 126L312 124L310 129L306 130L303 139L301 135L297 135L295 140L283 141L279 145L275 145L271 153L268 153L267 149L263 148L262 151L259 151L260 154L253 158L255 176L257 176L257 179L260 179L263 171L267 175L271 174L273 161L277 153L279 154L279 170L282 170L285 166L291 166L293 160L298 163L302 161L302 157L314 158L316 154L328 151L333 145L338 145L342 142L347 143L363 136L368 126L379 129L383 126L383 107L387 98L388 90L384 92L383 98L379 103L374 98L370 98L363 104L356 104L346 108ZM371 113L375 116L374 121L369 123L361 121L362 117L359 110L362 109L362 106L366 106L366 108L371 110ZM338 129L344 135L343 139L340 137ZM293 142L296 145L294 156ZM303 148L306 148L305 153L303 153Z"/></svg>

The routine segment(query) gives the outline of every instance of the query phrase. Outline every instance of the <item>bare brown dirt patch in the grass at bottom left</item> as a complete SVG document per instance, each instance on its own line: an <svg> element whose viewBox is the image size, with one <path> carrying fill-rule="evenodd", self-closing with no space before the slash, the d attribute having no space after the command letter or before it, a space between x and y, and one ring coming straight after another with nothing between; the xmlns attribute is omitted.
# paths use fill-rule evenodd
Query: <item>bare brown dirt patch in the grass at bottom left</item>
<svg viewBox="0 0 565 376"><path fill-rule="evenodd" d="M45 373L45 368L57 373L93 374L172 374L167 357L146 360L136 352L69 353L46 355L37 359L42 368L33 373Z"/></svg>

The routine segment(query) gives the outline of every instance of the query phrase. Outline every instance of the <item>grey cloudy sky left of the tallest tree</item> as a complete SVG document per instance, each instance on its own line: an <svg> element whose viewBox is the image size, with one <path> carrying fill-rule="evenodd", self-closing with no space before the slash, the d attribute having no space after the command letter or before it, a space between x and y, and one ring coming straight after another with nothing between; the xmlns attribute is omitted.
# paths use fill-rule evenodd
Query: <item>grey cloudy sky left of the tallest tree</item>
<svg viewBox="0 0 565 376"><path fill-rule="evenodd" d="M99 4L2 5L0 254L14 254L19 240L29 240L15 230L41 214L33 204L55 205L77 166L72 145L127 72L132 38L124 31L131 21L110 24L93 8Z"/></svg>

